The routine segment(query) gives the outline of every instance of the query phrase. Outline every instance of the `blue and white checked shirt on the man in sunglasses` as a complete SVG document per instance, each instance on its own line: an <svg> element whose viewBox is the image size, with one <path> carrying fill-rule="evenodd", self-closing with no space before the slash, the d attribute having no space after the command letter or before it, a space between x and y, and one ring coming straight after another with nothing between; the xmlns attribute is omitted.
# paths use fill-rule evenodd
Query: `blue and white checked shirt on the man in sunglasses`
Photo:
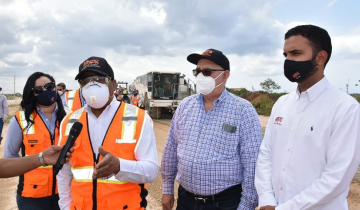
<svg viewBox="0 0 360 210"><path fill-rule="evenodd" d="M227 124L227 125L226 125ZM235 132L227 132L234 126ZM174 179L198 195L242 185L238 209L257 206L255 164L261 126L254 107L227 90L205 112L203 96L185 98L176 109L163 152L163 194L174 194Z"/></svg>

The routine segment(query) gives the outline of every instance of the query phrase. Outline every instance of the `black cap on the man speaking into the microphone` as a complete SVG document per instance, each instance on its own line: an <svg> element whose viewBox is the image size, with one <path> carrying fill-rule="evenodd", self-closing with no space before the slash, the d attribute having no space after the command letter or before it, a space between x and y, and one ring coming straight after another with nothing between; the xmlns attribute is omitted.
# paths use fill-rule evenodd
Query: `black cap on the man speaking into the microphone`
<svg viewBox="0 0 360 210"><path fill-rule="evenodd" d="M76 75L75 80L80 79L81 75L88 71L93 71L104 76L109 76L112 80L114 80L114 72L104 58L93 56L82 62L79 66L79 73Z"/></svg>

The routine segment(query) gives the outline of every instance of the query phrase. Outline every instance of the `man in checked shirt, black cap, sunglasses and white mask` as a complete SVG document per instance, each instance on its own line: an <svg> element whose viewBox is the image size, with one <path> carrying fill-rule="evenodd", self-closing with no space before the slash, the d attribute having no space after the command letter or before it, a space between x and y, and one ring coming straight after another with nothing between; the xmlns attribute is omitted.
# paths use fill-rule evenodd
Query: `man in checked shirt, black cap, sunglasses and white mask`
<svg viewBox="0 0 360 210"><path fill-rule="evenodd" d="M162 206L177 210L254 210L255 164L262 129L250 102L229 93L230 63L218 50L190 54L198 94L181 101L161 161Z"/></svg>

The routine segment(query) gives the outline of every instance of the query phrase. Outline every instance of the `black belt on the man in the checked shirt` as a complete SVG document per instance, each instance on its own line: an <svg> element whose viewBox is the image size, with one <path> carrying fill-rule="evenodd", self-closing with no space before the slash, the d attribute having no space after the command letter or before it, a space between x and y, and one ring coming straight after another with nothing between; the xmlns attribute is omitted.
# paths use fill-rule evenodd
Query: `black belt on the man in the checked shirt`
<svg viewBox="0 0 360 210"><path fill-rule="evenodd" d="M181 185L179 187L183 188ZM233 196L236 193L239 193L239 195L241 196L241 184L229 187L226 190L223 190L217 194L206 195L206 196L191 193L185 190L185 188L183 188L183 190L185 191L186 194L193 196L194 199L200 203L215 203L215 202L227 201L231 196Z"/></svg>

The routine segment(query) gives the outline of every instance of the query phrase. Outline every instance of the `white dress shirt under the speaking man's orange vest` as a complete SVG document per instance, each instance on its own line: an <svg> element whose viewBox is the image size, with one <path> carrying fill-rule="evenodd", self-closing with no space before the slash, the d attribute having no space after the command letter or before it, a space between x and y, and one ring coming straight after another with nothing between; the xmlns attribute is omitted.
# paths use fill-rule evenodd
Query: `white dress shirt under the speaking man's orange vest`
<svg viewBox="0 0 360 210"><path fill-rule="evenodd" d="M84 110L88 113L89 134L91 137L90 139L92 140L91 144L96 155L99 153L98 148L101 146L110 122L119 106L120 102L114 98L98 118L92 113L91 107L88 105L84 106ZM62 126L61 123L60 130ZM158 174L158 159L153 124L148 114L145 116L143 134L139 139L139 143L135 150L135 158L136 161L119 158L120 171L115 177L119 181L132 183L148 183L154 181ZM70 204L72 202L71 180L72 172L71 163L69 162L63 166L57 175L60 197L59 206L62 210L70 209Z"/></svg>

